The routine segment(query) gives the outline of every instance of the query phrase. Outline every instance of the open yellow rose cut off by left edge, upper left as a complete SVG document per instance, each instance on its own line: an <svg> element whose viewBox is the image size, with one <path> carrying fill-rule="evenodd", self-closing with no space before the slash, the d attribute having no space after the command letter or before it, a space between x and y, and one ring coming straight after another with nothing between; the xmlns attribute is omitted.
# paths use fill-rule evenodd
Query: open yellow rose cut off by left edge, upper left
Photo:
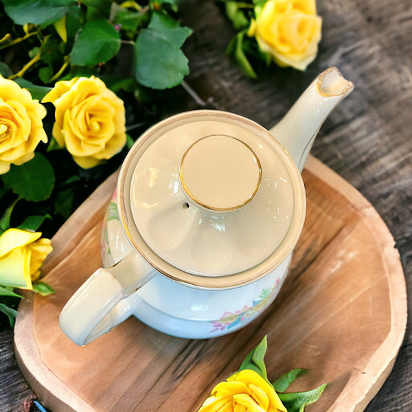
<svg viewBox="0 0 412 412"><path fill-rule="evenodd" d="M0 76L0 174L8 172L11 163L32 159L39 142L47 142L42 123L46 113L29 91Z"/></svg>

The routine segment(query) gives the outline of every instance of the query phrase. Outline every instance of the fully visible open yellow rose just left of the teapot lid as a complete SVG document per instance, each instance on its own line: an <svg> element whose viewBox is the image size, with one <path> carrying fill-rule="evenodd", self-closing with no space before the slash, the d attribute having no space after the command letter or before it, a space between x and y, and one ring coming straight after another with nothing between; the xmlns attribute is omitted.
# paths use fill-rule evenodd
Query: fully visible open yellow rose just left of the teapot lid
<svg viewBox="0 0 412 412"><path fill-rule="evenodd" d="M126 144L123 101L99 78L57 82L42 102L54 104L53 136L81 168L110 159Z"/></svg>

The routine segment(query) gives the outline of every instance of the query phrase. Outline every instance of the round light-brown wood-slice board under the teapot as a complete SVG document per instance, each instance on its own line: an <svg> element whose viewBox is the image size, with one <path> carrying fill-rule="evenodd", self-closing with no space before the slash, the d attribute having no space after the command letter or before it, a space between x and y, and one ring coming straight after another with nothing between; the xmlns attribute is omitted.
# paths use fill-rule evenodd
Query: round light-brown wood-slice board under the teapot
<svg viewBox="0 0 412 412"><path fill-rule="evenodd" d="M43 268L56 294L22 301L16 358L53 412L195 412L211 388L268 336L275 380L310 369L291 391L331 382L308 412L363 411L382 386L402 343L406 286L384 222L351 185L313 157L304 170L308 213L282 290L261 317L216 339L177 339L130 318L86 347L62 334L58 315L100 266L102 216L111 176L52 240Z"/></svg>

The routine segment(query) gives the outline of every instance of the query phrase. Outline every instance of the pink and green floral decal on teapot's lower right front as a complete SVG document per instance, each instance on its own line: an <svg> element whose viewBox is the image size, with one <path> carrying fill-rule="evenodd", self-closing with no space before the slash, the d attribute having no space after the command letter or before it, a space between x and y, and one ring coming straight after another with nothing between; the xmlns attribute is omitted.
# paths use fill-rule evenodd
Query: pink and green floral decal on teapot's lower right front
<svg viewBox="0 0 412 412"><path fill-rule="evenodd" d="M273 299L277 293L277 285L280 279L276 279L276 283L271 288L264 288L259 295L258 300L252 301L252 306L244 305L242 309L235 312L225 312L218 321L211 321L213 328L210 333L218 332L218 330L231 329L235 326L247 321L255 316L261 310L266 308L266 305Z"/></svg>

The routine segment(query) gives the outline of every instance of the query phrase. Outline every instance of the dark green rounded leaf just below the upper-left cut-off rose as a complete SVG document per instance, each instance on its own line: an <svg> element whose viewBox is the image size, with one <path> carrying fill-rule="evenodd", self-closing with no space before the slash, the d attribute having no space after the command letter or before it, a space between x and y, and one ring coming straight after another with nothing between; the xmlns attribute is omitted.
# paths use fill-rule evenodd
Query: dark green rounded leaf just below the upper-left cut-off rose
<svg viewBox="0 0 412 412"><path fill-rule="evenodd" d="M52 194L54 172L49 161L41 153L35 153L32 160L19 166L12 165L3 174L3 181L26 201L40 202Z"/></svg>

